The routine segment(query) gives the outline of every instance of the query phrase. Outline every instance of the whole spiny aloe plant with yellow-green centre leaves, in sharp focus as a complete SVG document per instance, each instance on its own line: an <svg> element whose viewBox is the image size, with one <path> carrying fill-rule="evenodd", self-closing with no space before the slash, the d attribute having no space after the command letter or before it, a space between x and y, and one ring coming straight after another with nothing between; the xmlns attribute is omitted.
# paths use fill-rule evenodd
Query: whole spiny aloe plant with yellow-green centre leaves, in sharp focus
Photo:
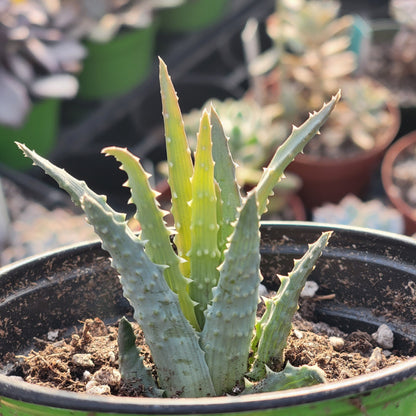
<svg viewBox="0 0 416 416"><path fill-rule="evenodd" d="M330 233L322 234L295 261L293 271L281 278L280 290L267 301L266 313L256 323L262 279L259 218L284 169L319 131L339 94L293 128L257 187L243 198L215 110L202 114L192 158L178 99L162 60L160 85L174 229L165 225L165 212L158 206L149 175L128 150L108 147L103 152L114 156L127 173L140 235L129 229L126 216L114 211L104 196L18 144L83 208L110 253L157 368L157 381L144 390L148 395L159 395L163 389L166 396L201 397L244 389L245 377L247 392L325 381L317 367L285 366L283 351L299 292ZM172 234L177 251L170 243ZM122 377L129 382L137 377L145 383L149 374L131 337L131 328L123 320L119 326Z"/></svg>

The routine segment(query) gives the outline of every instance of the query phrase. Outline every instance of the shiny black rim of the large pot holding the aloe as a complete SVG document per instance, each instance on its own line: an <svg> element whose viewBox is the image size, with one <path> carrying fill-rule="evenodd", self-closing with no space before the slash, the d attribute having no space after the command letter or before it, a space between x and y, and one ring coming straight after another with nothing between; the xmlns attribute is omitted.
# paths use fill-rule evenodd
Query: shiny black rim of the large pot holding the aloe
<svg viewBox="0 0 416 416"><path fill-rule="evenodd" d="M400 243L410 244L416 248L416 240L410 237L390 232L323 223L304 221L262 221L262 226L291 228L293 226L303 229L334 230L335 232L350 232L353 234L373 235L381 238L396 240ZM63 255L65 252L80 252L85 249L94 249L100 245L99 240L72 244L60 249L48 251L40 256L12 263L0 268L0 278L13 269L27 266L35 259L45 259L52 255ZM37 405L53 406L58 408L103 411L123 414L209 414L231 413L241 411L254 411L288 407L300 404L314 403L322 400L348 397L360 394L387 385L399 383L406 379L416 377L416 358L410 358L402 363L369 373L355 376L350 379L320 384L312 387L285 390L271 393L258 393L245 396L222 396L202 398L128 398L113 396L97 396L87 393L74 393L55 390L49 387L37 386L12 377L0 375L0 396L14 400L25 401Z"/></svg>

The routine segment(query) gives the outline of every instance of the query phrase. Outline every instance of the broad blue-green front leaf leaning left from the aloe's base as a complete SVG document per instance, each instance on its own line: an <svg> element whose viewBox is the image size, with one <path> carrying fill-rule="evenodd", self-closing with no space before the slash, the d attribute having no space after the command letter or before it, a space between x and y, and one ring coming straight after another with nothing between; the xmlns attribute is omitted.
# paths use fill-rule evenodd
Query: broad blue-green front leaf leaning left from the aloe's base
<svg viewBox="0 0 416 416"><path fill-rule="evenodd" d="M214 395L197 333L182 314L178 296L166 283L165 267L149 259L144 243L108 205L85 195L82 208L120 273L123 294L134 308L134 318L157 363L160 387L168 396Z"/></svg>

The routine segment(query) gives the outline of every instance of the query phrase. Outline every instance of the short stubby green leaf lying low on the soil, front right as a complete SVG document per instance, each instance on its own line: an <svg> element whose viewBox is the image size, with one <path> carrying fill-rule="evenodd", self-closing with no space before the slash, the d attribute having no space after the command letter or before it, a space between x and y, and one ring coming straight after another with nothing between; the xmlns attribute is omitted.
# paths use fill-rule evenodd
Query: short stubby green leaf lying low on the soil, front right
<svg viewBox="0 0 416 416"><path fill-rule="evenodd" d="M318 366L293 367L287 363L284 370L278 373L267 368L266 377L257 384L246 383L243 394L297 389L325 382L325 373Z"/></svg>

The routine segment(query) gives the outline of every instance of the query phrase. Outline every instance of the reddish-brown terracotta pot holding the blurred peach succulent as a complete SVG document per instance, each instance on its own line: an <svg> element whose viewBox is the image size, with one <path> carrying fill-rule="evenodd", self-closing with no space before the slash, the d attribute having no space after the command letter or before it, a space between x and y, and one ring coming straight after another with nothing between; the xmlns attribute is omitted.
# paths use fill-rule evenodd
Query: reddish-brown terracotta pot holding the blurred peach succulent
<svg viewBox="0 0 416 416"><path fill-rule="evenodd" d="M372 150L344 159L299 154L290 164L288 171L302 179L300 196L308 209L324 202L339 202L347 194L360 197L365 194L373 173L399 130L398 107L389 105L389 111L393 116L392 123L380 134L378 144Z"/></svg>

